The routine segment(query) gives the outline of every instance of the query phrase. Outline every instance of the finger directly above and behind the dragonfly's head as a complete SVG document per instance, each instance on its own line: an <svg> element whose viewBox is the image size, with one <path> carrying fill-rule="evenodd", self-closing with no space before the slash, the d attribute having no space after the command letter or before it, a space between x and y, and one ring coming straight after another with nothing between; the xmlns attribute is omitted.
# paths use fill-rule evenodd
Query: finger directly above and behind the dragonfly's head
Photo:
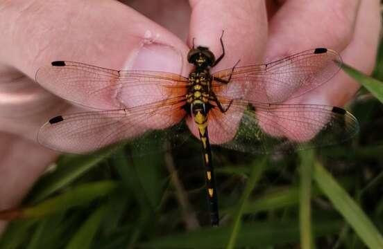
<svg viewBox="0 0 383 249"><path fill-rule="evenodd" d="M225 57L212 68L212 72L223 68L232 68L241 59L239 66L257 64L263 61L264 46L267 35L267 18L264 1L201 1L190 0L191 20L189 30L189 46L207 46L215 57L222 53L219 37L223 34ZM230 117L227 115L226 117ZM187 124L192 133L198 136L193 121ZM216 120L209 121L210 137L221 140L222 135L216 133L219 124ZM238 122L231 123L236 127ZM232 134L231 134L232 135ZM231 137L229 134L228 139ZM225 140L225 138L223 138Z"/></svg>

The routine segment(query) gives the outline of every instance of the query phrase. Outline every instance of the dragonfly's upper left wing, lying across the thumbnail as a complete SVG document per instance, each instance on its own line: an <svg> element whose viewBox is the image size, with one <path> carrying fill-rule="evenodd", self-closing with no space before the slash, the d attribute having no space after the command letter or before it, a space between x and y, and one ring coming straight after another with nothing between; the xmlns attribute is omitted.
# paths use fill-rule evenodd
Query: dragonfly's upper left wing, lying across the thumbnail
<svg viewBox="0 0 383 249"><path fill-rule="evenodd" d="M173 73L117 71L79 62L52 62L35 76L56 95L84 107L110 110L185 95L187 79Z"/></svg>

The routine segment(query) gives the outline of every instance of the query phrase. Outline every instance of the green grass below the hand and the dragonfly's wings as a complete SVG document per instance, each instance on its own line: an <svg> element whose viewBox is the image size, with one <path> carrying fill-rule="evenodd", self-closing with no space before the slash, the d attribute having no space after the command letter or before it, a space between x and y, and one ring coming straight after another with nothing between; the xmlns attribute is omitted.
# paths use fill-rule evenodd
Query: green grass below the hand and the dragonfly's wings
<svg viewBox="0 0 383 249"><path fill-rule="evenodd" d="M374 79L344 66L363 86L348 105L361 127L348 143L264 160L214 149L219 228L191 140L149 156L62 156L0 212L12 220L0 248L383 248L382 68L382 47Z"/></svg>

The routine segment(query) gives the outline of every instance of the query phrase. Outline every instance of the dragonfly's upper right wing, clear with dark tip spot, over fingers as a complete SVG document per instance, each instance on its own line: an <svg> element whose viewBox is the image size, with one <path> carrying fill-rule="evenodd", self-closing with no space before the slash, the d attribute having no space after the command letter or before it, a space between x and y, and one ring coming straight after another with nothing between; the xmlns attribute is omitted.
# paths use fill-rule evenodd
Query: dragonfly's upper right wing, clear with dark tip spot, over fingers
<svg viewBox="0 0 383 249"><path fill-rule="evenodd" d="M316 89L341 67L334 50L315 48L267 64L242 66L213 74L229 84L214 82L213 91L227 98L246 98L255 102L280 103Z"/></svg>

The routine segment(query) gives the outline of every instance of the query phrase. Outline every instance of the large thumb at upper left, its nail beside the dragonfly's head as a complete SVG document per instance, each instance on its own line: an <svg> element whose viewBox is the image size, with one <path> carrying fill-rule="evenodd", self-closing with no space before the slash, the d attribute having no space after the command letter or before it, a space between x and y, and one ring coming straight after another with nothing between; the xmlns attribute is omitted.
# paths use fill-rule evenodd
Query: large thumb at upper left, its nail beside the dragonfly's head
<svg viewBox="0 0 383 249"><path fill-rule="evenodd" d="M29 11L22 17L12 11L28 4ZM0 42L6 51L1 62L31 78L38 68L56 60L172 73L182 73L185 68L182 56L187 48L180 39L117 1L72 0L49 5L32 1L10 3L2 11L1 29L8 33ZM6 28L11 24L12 34ZM62 95L61 86L50 82L43 86L62 98L69 97ZM73 90L72 94L85 94L76 85ZM110 93L110 99L113 95ZM121 98L129 100L128 96Z"/></svg>

